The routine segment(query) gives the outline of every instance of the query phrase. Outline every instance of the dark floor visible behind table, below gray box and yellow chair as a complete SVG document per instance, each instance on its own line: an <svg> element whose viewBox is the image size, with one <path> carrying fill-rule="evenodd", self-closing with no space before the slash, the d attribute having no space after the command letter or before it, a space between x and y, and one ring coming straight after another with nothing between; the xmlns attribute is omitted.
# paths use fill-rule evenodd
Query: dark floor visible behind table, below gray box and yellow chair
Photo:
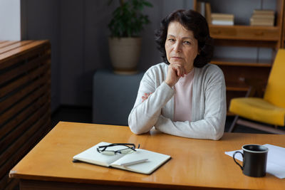
<svg viewBox="0 0 285 190"><path fill-rule="evenodd" d="M226 125L224 131L227 132L229 130L230 125L232 124L232 120L234 120L234 116L228 116L226 120ZM91 107L71 107L71 106L61 106L53 112L51 115L51 123L52 126L56 126L56 124L60 121L65 122L92 122L92 108ZM237 125L235 127L234 132L246 132L246 133L266 133L259 130L254 130L249 127L244 127L242 125Z"/></svg>

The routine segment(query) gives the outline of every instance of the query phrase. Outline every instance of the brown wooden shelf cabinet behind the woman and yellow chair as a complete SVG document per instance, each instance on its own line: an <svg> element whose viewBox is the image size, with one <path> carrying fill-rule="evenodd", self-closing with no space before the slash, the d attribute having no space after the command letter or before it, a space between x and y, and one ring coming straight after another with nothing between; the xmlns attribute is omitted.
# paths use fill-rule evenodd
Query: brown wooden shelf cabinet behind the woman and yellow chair
<svg viewBox="0 0 285 190"><path fill-rule="evenodd" d="M252 0L253 1L253 0ZM207 1L211 5L219 0ZM245 1L232 1L234 4L244 4ZM257 3L257 2L256 2ZM244 6L247 6L246 4ZM197 0L193 1L197 10ZM253 10L252 10L253 11ZM224 72L227 85L227 105L233 97L243 97L249 89L249 80L256 80L262 88L266 82L274 61L276 50L284 47L284 0L276 0L276 23L274 26L218 26L209 24L209 31L214 38L214 46L241 46L272 48L271 58L219 58L214 56L211 63L219 65ZM212 12L217 12L212 9ZM227 115L232 115L227 113Z"/></svg>

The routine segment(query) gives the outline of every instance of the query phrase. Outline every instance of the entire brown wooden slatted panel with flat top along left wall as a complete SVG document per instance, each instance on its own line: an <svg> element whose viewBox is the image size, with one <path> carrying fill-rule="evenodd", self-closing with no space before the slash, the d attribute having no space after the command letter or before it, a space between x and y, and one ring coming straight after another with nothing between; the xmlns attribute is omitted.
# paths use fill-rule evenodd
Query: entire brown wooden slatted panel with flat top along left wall
<svg viewBox="0 0 285 190"><path fill-rule="evenodd" d="M0 41L0 189L14 164L51 128L51 45Z"/></svg>

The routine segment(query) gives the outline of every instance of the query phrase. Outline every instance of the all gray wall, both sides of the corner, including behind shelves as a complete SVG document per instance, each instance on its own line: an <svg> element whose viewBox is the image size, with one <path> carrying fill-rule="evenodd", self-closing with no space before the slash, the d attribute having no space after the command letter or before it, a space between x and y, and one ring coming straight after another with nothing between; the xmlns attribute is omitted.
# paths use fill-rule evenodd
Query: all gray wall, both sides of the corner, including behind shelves
<svg viewBox="0 0 285 190"><path fill-rule="evenodd" d="M175 9L192 9L191 0L150 2L154 7L145 9L151 23L142 33L139 70L161 61L154 42L161 19ZM107 0L21 0L22 39L51 41L52 110L58 105L91 106L93 73L98 68L110 68L107 25L118 1L107 4ZM212 6L215 12L233 13L236 23L248 23L253 9L275 9L275 1L219 0ZM270 58L271 50L217 47L215 54Z"/></svg>

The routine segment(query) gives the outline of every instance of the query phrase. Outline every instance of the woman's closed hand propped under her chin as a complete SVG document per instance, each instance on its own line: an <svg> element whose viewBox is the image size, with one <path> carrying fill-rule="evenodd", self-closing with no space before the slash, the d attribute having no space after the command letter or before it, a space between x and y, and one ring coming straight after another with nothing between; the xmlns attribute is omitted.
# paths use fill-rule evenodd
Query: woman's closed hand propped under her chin
<svg viewBox="0 0 285 190"><path fill-rule="evenodd" d="M171 63L168 66L165 83L172 88L181 77L184 77L184 75L186 75L186 70L182 65Z"/></svg>

